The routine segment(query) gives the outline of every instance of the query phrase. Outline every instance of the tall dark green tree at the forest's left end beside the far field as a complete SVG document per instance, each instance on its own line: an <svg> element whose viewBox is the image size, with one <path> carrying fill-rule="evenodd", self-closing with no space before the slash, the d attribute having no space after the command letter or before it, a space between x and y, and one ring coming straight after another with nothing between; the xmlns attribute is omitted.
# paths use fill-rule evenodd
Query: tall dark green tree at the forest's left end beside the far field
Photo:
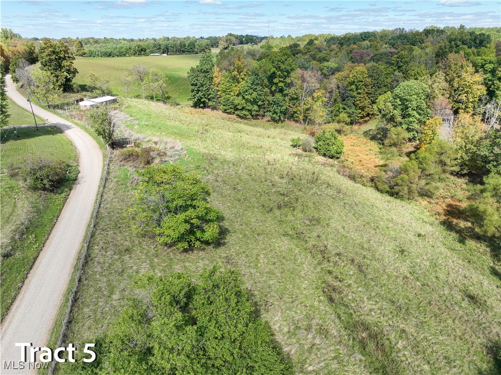
<svg viewBox="0 0 501 375"><path fill-rule="evenodd" d="M215 105L216 92L212 80L214 76L214 60L212 56L203 55L200 63L188 71L190 85L189 100L193 106L210 108Z"/></svg>

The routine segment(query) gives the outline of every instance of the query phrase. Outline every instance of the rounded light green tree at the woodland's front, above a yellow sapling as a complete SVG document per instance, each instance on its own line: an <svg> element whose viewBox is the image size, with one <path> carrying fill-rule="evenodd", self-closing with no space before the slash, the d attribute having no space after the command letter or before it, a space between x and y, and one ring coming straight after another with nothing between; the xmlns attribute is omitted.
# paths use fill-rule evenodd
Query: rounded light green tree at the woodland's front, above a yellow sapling
<svg viewBox="0 0 501 375"><path fill-rule="evenodd" d="M422 82L405 81L397 86L389 101L393 107L391 121L403 128L411 139L419 138L422 125L430 118L428 94L429 89Z"/></svg>

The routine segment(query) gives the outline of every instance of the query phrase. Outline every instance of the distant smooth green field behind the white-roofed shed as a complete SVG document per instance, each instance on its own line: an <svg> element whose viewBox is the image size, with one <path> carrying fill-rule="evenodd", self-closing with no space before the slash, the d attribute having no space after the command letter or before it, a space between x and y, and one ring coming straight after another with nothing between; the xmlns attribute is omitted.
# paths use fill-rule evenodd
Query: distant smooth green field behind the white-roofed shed
<svg viewBox="0 0 501 375"><path fill-rule="evenodd" d="M126 92L120 77L124 71L132 75L133 65L144 65L147 70L156 68L163 72L168 78L167 91L169 95L180 104L188 104L190 93L187 73L190 67L198 64L200 57L201 55L77 58L75 67L79 73L75 77L74 83L81 85L81 89L85 90L84 85L89 83L89 73L94 72L99 77L110 80L113 94L125 97ZM146 95L149 95L148 92ZM142 98L137 78L135 78L130 97Z"/></svg>

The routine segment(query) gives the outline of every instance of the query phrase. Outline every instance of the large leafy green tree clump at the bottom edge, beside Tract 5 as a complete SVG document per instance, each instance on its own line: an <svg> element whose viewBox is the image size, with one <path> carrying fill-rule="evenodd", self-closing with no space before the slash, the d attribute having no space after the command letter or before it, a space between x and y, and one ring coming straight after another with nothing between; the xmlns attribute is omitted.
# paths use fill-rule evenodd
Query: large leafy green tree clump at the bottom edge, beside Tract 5
<svg viewBox="0 0 501 375"><path fill-rule="evenodd" d="M290 362L237 271L215 266L194 283L185 273L141 275L137 297L98 342L98 360L72 373L286 375ZM93 341L94 342L94 341Z"/></svg>

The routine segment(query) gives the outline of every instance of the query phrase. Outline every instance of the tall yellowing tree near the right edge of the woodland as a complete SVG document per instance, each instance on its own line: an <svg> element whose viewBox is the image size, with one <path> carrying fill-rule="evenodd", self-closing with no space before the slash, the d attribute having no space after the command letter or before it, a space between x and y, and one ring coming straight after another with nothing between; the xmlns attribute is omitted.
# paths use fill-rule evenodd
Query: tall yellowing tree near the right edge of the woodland
<svg viewBox="0 0 501 375"><path fill-rule="evenodd" d="M455 113L472 114L478 99L485 94L483 76L460 54L450 54L445 63L449 100Z"/></svg>

